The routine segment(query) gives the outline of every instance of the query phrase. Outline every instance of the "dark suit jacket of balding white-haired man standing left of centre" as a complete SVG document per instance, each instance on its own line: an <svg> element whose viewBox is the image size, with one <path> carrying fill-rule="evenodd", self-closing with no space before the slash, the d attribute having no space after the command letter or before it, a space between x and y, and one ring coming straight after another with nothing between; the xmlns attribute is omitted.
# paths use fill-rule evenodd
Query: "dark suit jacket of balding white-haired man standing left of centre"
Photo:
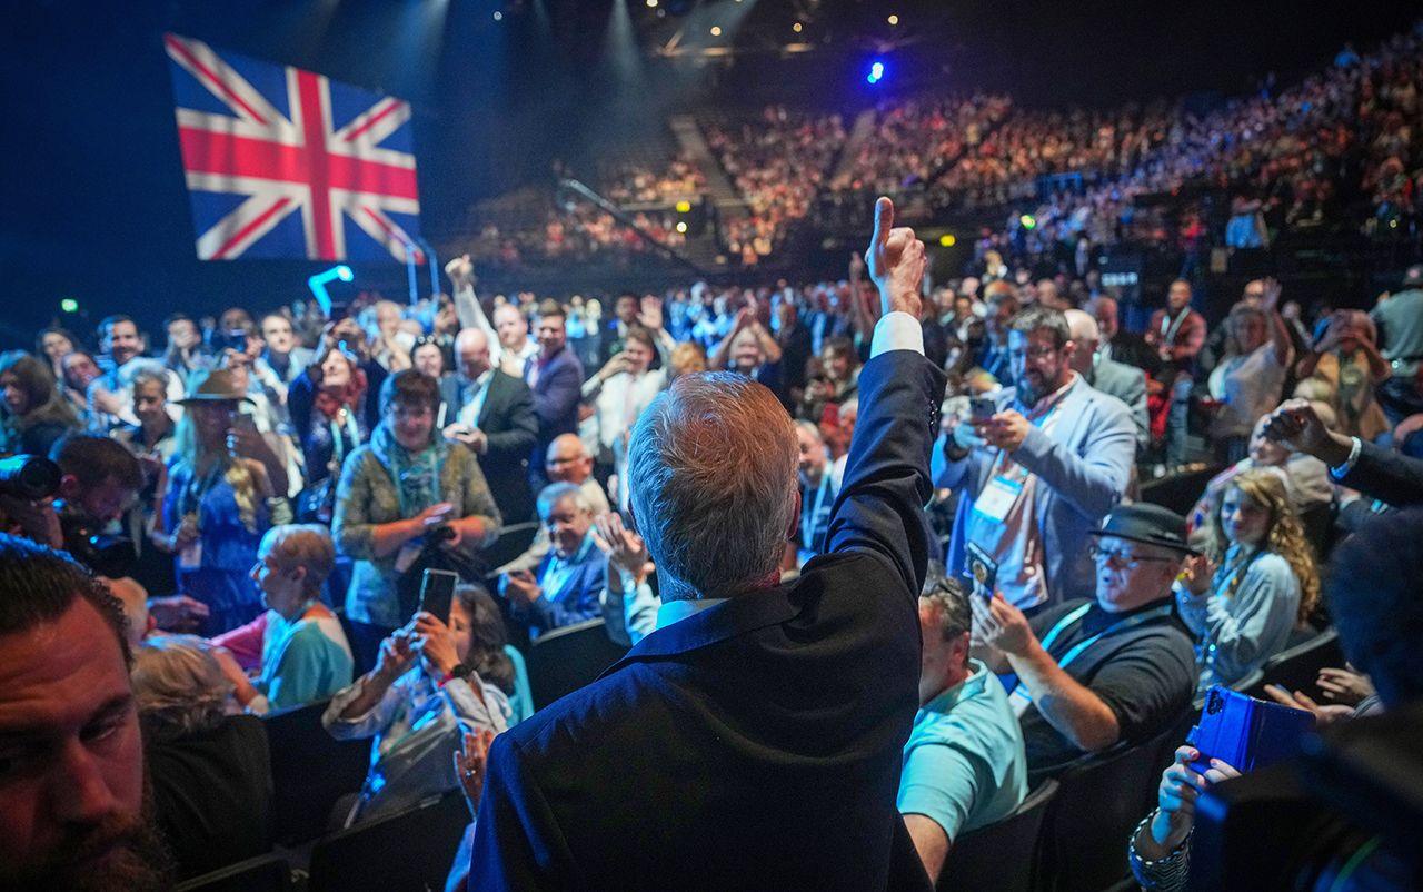
<svg viewBox="0 0 1423 892"><path fill-rule="evenodd" d="M440 397L450 407L445 424L454 424L464 408L460 378L440 381ZM494 504L505 524L519 524L534 516L534 492L529 488L529 454L538 441L538 415L529 386L499 370L490 378L490 393L475 420L490 437L490 451L480 455L480 469L490 484Z"/></svg>

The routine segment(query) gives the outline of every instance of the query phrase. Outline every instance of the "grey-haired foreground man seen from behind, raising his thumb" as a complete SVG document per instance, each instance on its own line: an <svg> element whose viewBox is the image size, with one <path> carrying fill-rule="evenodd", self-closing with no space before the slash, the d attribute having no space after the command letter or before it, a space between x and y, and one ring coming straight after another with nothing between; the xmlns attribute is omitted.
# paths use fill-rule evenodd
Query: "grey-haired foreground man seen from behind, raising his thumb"
<svg viewBox="0 0 1423 892"><path fill-rule="evenodd" d="M918 704L929 444L924 243L879 199L885 312L828 553L780 585L795 434L734 374L683 376L639 420L632 515L657 629L495 738L471 889L928 889L895 809Z"/></svg>

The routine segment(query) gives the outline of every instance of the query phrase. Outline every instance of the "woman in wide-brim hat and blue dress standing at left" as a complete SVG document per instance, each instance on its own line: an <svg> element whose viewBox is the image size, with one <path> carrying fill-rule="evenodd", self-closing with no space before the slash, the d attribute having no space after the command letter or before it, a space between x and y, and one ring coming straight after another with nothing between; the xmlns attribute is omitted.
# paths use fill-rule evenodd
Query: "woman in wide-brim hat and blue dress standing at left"
<svg viewBox="0 0 1423 892"><path fill-rule="evenodd" d="M209 371L179 403L176 450L161 495L154 543L174 555L178 589L208 606L202 635L250 622L262 600L248 578L273 497L266 468L228 448L232 421L249 401L232 373Z"/></svg>

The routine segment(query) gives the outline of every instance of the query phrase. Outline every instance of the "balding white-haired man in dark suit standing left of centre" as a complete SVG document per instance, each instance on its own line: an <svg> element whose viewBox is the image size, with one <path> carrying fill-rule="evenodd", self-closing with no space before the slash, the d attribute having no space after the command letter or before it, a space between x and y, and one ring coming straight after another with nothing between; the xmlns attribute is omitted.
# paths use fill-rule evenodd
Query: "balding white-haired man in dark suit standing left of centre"
<svg viewBox="0 0 1423 892"><path fill-rule="evenodd" d="M464 329L454 339L458 371L440 381L447 440L470 447L490 484L505 524L534 516L529 454L538 441L538 417L528 384L494 367L490 336Z"/></svg>

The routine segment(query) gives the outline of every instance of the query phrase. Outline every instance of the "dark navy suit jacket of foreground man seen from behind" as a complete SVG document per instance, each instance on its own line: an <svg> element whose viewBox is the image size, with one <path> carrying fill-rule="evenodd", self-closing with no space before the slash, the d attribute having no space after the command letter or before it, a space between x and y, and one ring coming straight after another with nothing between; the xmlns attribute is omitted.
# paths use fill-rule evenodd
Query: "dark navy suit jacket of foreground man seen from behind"
<svg viewBox="0 0 1423 892"><path fill-rule="evenodd" d="M471 889L929 888L895 797L943 376L892 351L859 390L831 553L498 736Z"/></svg>

